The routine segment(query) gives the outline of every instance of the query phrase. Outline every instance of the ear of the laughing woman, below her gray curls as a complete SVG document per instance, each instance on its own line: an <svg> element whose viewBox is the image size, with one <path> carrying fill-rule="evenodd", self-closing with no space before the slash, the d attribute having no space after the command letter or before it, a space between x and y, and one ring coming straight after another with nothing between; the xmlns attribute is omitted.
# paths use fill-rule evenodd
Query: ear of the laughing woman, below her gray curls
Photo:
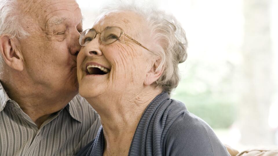
<svg viewBox="0 0 278 156"><path fill-rule="evenodd" d="M159 65L160 65L160 62L161 62L161 59L155 60L152 63L153 66L147 72L147 75L146 75L146 78L145 78L145 81L144 81L145 85L151 85L153 82L158 80L159 77L162 75L162 73L164 71L164 67L162 66L162 67L158 68Z"/></svg>

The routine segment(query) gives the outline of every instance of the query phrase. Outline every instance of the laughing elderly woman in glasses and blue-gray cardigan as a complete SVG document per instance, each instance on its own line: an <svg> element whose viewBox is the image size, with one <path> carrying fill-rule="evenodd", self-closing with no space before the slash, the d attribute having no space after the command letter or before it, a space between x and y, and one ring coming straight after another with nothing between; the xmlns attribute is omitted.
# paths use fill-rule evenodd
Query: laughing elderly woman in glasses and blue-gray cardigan
<svg viewBox="0 0 278 156"><path fill-rule="evenodd" d="M209 125L170 99L187 56L173 16L108 8L79 42L79 93L102 126L78 155L229 155Z"/></svg>

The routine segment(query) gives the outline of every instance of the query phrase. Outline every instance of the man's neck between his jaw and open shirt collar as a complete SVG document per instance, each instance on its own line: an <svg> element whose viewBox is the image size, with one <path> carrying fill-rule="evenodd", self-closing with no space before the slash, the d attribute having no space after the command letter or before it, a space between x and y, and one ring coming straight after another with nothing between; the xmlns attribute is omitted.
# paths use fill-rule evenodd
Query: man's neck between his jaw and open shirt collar
<svg viewBox="0 0 278 156"><path fill-rule="evenodd" d="M51 114L65 107L77 94L77 92L67 95L64 93L54 94L39 89L40 87L22 84L20 81L10 82L1 79L1 84L9 98L17 102L22 111L34 121L38 128Z"/></svg>

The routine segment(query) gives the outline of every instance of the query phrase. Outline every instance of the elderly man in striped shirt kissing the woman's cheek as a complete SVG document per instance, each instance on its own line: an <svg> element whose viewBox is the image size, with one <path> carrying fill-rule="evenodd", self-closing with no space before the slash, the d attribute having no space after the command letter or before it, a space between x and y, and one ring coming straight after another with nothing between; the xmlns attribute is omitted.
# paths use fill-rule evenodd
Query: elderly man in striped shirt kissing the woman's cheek
<svg viewBox="0 0 278 156"><path fill-rule="evenodd" d="M0 155L74 155L98 115L78 94L75 0L0 0Z"/></svg>

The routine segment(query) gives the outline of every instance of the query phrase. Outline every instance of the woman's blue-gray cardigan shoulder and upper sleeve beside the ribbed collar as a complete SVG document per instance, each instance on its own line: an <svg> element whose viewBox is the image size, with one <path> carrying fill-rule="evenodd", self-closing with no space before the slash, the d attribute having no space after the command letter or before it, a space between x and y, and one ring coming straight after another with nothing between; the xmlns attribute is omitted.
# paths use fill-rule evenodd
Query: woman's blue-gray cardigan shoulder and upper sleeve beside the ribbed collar
<svg viewBox="0 0 278 156"><path fill-rule="evenodd" d="M171 100L165 111L170 123L164 139L164 152L168 154L228 155L226 147L220 142L212 128L201 118L191 114L185 104ZM167 110L165 109L165 110ZM168 154L167 154L168 153Z"/></svg>

